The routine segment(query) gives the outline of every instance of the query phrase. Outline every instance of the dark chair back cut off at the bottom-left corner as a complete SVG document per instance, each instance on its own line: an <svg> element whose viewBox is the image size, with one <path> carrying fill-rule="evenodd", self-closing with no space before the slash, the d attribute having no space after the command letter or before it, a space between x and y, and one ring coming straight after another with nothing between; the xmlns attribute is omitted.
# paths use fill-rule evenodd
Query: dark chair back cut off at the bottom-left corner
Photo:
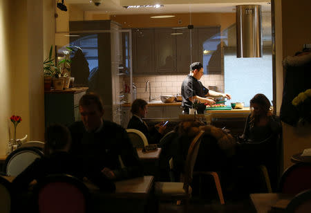
<svg viewBox="0 0 311 213"><path fill-rule="evenodd" d="M1 213L10 213L12 203L10 182L0 176L0 209Z"/></svg>

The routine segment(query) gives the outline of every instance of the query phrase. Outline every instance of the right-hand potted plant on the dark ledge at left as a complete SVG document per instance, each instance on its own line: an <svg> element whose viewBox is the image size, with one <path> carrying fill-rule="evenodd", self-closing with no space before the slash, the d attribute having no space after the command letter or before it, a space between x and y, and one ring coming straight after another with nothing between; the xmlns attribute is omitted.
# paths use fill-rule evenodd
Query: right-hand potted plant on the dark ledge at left
<svg viewBox="0 0 311 213"><path fill-rule="evenodd" d="M64 89L68 89L70 84L70 54L73 52L73 49L68 46L66 46L66 49L66 51L63 51L65 54L64 59L58 62L60 76L64 78Z"/></svg>

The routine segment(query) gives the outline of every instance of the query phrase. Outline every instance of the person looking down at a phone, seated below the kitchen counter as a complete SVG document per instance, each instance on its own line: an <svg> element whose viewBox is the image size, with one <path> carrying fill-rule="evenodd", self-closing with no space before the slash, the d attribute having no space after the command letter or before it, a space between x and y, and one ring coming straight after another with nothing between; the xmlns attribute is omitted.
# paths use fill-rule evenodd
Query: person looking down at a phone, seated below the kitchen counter
<svg viewBox="0 0 311 213"><path fill-rule="evenodd" d="M162 135L167 128L166 125L163 125L163 122L156 124L154 127L149 128L146 122L142 120L147 115L147 106L148 103L142 99L136 99L133 101L131 106L131 113L133 114L127 129L137 129L144 133L149 144L156 144L160 142Z"/></svg>

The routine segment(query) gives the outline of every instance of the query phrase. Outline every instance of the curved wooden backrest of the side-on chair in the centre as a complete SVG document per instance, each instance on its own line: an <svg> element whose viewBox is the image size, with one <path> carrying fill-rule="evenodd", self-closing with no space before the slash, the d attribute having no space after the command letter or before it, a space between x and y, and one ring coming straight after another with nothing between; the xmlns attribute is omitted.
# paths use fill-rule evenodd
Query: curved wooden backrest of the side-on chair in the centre
<svg viewBox="0 0 311 213"><path fill-rule="evenodd" d="M184 189L188 193L189 184L192 181L194 173L194 165L196 164L196 157L198 156L198 150L204 131L199 131L198 135L192 140L188 149L188 154L185 163L185 174L184 174Z"/></svg>

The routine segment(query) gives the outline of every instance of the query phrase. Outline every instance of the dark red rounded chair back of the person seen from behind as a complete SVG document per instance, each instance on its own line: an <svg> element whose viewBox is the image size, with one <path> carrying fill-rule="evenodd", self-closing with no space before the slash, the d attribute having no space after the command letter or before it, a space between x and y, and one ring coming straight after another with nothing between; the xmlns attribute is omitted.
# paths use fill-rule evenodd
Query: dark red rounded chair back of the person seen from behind
<svg viewBox="0 0 311 213"><path fill-rule="evenodd" d="M88 212L88 188L74 176L46 176L36 185L34 195L39 213Z"/></svg>

